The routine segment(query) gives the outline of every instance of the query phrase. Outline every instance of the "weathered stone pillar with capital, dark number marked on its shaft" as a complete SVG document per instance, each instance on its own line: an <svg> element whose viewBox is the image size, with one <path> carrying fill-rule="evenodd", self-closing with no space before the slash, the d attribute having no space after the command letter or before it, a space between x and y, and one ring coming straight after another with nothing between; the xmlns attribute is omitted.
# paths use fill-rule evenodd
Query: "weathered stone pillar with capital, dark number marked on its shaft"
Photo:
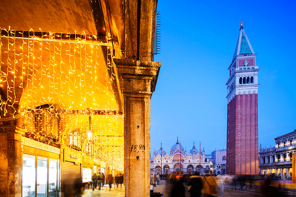
<svg viewBox="0 0 296 197"><path fill-rule="evenodd" d="M123 92L124 177L127 197L149 196L150 99L159 62L113 59Z"/></svg>

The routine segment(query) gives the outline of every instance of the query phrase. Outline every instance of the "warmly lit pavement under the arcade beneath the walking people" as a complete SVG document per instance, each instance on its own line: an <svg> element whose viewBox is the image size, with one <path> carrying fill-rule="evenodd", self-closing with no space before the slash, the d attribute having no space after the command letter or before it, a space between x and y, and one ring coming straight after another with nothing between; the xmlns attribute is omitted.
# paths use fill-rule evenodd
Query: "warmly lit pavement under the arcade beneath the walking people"
<svg viewBox="0 0 296 197"><path fill-rule="evenodd" d="M105 186L108 187L101 187L101 190L94 189L92 190L86 190L83 193L79 195L79 197L96 197L96 196L102 196L102 197L124 197L124 187L122 189L116 188L116 185L112 184L111 191L109 191L109 185L105 184Z"/></svg>

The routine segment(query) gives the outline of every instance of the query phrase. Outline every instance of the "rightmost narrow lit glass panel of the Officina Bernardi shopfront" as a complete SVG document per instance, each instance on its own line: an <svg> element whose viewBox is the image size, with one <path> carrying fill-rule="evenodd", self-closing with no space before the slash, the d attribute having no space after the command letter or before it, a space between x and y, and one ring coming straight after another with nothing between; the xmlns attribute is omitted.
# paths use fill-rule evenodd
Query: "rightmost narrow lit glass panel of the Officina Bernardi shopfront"
<svg viewBox="0 0 296 197"><path fill-rule="evenodd" d="M48 169L48 196L57 196L57 159L49 158L49 169Z"/></svg>

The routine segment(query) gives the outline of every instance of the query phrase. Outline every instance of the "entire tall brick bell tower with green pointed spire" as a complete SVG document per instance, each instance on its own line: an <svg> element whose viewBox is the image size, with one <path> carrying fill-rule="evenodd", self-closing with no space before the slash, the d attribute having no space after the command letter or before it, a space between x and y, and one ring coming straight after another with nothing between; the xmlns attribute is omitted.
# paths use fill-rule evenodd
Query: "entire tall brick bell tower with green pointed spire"
<svg viewBox="0 0 296 197"><path fill-rule="evenodd" d="M226 174L258 175L257 53L240 22L239 38L228 68Z"/></svg>

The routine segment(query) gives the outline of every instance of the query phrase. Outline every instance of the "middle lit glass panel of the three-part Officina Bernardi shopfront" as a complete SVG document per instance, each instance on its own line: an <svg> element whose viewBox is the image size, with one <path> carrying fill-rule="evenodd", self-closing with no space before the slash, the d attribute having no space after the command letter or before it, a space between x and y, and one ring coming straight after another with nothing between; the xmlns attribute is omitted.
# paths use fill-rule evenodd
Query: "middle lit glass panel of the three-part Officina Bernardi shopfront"
<svg viewBox="0 0 296 197"><path fill-rule="evenodd" d="M47 157L37 156L37 197L47 195Z"/></svg>

